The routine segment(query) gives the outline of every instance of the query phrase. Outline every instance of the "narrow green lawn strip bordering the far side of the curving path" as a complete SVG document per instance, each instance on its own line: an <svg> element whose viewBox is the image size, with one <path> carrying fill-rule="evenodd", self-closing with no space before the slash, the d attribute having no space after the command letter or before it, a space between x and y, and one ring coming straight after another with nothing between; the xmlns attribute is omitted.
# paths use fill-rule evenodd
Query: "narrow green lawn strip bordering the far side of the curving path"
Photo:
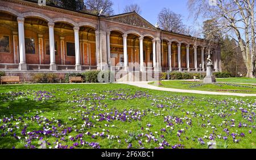
<svg viewBox="0 0 256 160"><path fill-rule="evenodd" d="M160 84L159 84L160 83ZM172 89L183 90L200 90L200 91L218 91L218 92L237 92L237 93L256 93L256 85L241 85L235 83L214 83L204 84L203 82L193 81L160 81L150 82L150 85L167 87Z"/></svg>

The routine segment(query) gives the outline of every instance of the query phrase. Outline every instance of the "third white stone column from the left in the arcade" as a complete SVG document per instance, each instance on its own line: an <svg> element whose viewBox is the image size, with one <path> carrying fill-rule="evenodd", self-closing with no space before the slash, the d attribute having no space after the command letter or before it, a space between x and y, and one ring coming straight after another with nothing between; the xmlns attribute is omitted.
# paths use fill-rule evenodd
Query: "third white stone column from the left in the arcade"
<svg viewBox="0 0 256 160"><path fill-rule="evenodd" d="M73 30L75 32L76 70L82 70L80 65L79 27L74 27Z"/></svg>

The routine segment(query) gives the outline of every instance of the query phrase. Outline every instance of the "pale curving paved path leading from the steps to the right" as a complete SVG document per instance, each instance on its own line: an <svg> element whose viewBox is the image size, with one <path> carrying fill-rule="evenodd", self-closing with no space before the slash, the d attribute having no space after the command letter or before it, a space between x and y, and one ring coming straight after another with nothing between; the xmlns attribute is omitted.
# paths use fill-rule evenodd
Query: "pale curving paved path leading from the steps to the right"
<svg viewBox="0 0 256 160"><path fill-rule="evenodd" d="M165 87L148 85L148 83L150 82L118 82L118 83L133 85L133 86L141 87L144 89L159 90L159 91L185 92L185 93L192 93L192 94L207 94L207 95L256 96L256 94L241 94L241 93L232 93L232 92L209 92L209 91L199 91L199 90L170 89Z"/></svg>

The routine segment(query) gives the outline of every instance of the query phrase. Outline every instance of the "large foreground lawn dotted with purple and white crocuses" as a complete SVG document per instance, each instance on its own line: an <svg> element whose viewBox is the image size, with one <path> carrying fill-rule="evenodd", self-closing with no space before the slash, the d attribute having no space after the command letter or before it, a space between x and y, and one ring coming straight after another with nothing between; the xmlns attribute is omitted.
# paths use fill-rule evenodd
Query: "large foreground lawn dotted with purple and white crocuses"
<svg viewBox="0 0 256 160"><path fill-rule="evenodd" d="M256 99L121 84L0 86L0 148L256 148Z"/></svg>

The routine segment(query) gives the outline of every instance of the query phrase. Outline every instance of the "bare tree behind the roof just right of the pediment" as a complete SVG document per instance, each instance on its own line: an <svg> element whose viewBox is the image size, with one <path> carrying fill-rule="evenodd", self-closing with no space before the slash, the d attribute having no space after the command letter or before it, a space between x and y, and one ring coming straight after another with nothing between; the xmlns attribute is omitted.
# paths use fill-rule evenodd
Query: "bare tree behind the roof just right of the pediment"
<svg viewBox="0 0 256 160"><path fill-rule="evenodd" d="M158 23L162 30L172 31L176 33L184 32L184 24L182 23L181 15L176 14L170 9L162 9L158 14Z"/></svg>

